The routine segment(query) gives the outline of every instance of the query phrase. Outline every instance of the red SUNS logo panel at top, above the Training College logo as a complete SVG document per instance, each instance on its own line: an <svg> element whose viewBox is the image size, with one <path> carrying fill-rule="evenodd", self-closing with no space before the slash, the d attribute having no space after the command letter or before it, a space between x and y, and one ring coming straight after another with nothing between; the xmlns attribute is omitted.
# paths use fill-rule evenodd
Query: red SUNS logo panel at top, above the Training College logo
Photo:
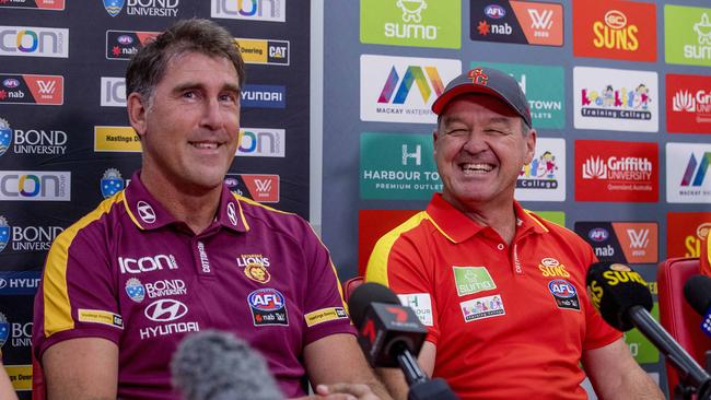
<svg viewBox="0 0 711 400"><path fill-rule="evenodd" d="M656 7L632 1L573 2L573 54L656 61Z"/></svg>

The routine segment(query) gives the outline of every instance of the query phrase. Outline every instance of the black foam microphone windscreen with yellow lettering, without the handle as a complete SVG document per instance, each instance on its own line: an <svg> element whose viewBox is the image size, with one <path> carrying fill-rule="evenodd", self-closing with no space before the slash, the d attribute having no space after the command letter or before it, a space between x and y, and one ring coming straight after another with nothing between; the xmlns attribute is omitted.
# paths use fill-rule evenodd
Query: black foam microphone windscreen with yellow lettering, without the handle
<svg viewBox="0 0 711 400"><path fill-rule="evenodd" d="M634 326L628 310L641 306L652 310L654 301L642 277L622 263L596 262L587 270L587 293L603 319L628 331Z"/></svg>

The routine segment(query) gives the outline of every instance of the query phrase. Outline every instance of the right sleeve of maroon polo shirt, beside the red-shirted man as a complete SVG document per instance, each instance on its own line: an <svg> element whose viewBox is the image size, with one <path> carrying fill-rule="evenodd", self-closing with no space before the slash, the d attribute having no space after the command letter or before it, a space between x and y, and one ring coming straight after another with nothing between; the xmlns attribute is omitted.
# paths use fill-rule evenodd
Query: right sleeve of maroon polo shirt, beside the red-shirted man
<svg viewBox="0 0 711 400"><path fill-rule="evenodd" d="M328 249L305 221L303 224L303 244L308 268L304 296L304 342L308 344L334 333L356 334Z"/></svg>

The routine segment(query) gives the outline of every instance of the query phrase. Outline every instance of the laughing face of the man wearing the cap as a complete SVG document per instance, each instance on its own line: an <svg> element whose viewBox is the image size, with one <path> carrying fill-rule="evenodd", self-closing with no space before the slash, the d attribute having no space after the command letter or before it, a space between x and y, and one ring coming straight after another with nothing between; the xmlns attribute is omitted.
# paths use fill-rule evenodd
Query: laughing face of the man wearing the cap
<svg viewBox="0 0 711 400"><path fill-rule="evenodd" d="M534 156L536 133L522 129L521 117L496 97L453 99L434 133L443 198L462 211L508 207L521 168Z"/></svg>

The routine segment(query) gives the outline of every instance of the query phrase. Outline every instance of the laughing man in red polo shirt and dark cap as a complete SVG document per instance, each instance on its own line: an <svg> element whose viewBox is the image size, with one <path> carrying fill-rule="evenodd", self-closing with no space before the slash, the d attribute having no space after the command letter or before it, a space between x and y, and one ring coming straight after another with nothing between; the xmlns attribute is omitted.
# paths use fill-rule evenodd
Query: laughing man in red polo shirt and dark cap
<svg viewBox="0 0 711 400"><path fill-rule="evenodd" d="M444 190L378 240L366 272L428 326L423 369L462 399L586 399L585 375L603 399L663 399L587 298L592 248L514 200L536 144L517 82L475 68L432 110ZM403 374L382 373L405 399Z"/></svg>

